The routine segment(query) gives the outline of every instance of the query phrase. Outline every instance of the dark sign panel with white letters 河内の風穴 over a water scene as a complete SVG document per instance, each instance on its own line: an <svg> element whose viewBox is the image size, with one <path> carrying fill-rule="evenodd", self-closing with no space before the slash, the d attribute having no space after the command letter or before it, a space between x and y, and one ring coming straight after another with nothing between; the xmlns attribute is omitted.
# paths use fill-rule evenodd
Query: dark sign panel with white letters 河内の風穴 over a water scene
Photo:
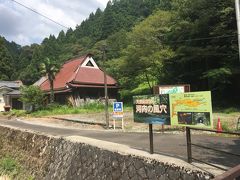
<svg viewBox="0 0 240 180"><path fill-rule="evenodd" d="M134 121L170 125L169 95L133 97Z"/></svg>

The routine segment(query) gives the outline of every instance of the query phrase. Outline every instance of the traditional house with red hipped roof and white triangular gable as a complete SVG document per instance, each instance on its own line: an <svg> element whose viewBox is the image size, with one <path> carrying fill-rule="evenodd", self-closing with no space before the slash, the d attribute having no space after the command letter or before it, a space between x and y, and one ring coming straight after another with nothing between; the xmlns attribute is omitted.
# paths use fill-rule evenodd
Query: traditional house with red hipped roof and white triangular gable
<svg viewBox="0 0 240 180"><path fill-rule="evenodd" d="M50 94L50 82L42 77L35 85ZM65 62L55 76L53 83L55 101L79 106L86 101L104 98L104 71L98 67L91 54ZM109 99L116 99L117 81L107 75Z"/></svg>

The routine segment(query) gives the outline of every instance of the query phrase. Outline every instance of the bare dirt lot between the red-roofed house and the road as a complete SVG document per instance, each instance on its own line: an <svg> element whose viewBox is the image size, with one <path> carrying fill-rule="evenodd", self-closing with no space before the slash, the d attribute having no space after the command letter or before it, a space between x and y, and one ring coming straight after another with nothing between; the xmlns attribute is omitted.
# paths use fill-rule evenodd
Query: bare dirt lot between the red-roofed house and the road
<svg viewBox="0 0 240 180"><path fill-rule="evenodd" d="M220 118L222 127L224 130L235 131L237 127L237 120L240 117L239 113L233 114L222 114L222 113L213 113L213 128L216 129L217 127L217 120ZM30 118L24 117L21 120L27 120L29 123L39 123L39 124L46 124L48 126L60 126L60 127L74 127L78 129L105 129L105 113L88 113L88 114L70 114L70 115L59 115L59 116L49 116L43 118ZM63 120L65 119L65 120ZM67 120L67 121L66 121ZM110 128L113 129L113 118L112 114L109 113L109 120L110 120ZM80 122L78 122L80 121ZM125 112L124 113L124 130L129 132L147 132L148 131L148 124L144 123L135 123L133 121L133 113L132 112ZM87 122L87 123L84 123ZM97 124L96 124L97 123ZM122 121L116 120L116 129L122 129ZM162 132L161 125L154 125L153 126L155 132ZM184 127L177 127L177 126L164 126L165 131L184 131Z"/></svg>

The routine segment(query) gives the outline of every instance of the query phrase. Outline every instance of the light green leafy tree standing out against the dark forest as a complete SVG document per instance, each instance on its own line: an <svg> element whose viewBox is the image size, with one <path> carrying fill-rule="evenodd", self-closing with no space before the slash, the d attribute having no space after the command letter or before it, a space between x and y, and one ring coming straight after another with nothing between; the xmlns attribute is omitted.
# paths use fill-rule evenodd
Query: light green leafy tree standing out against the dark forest
<svg viewBox="0 0 240 180"><path fill-rule="evenodd" d="M158 11L136 25L128 34L128 46L123 50L124 63L121 62L121 74L124 87L135 88L147 83L149 89L161 80L162 67L174 52L158 37L170 29L171 14ZM129 82L130 80L130 82Z"/></svg>

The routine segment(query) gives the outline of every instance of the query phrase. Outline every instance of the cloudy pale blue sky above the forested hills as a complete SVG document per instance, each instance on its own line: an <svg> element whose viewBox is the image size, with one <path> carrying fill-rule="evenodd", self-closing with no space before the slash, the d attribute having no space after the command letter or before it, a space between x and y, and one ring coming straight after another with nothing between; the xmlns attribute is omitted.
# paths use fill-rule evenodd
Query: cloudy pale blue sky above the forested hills
<svg viewBox="0 0 240 180"><path fill-rule="evenodd" d="M104 9L108 0L16 0L37 12L75 29L97 8ZM0 0L0 35L20 45L41 43L63 27L19 6L12 0Z"/></svg>

